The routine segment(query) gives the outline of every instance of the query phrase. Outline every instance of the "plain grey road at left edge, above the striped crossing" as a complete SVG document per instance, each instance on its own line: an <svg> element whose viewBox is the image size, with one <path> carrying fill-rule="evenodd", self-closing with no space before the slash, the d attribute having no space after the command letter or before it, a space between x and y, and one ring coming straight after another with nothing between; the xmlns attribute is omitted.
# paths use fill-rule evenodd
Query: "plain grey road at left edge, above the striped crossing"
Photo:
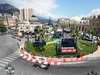
<svg viewBox="0 0 100 75"><path fill-rule="evenodd" d="M17 48L17 40L11 38L11 35L0 35L0 58L15 52Z"/></svg>

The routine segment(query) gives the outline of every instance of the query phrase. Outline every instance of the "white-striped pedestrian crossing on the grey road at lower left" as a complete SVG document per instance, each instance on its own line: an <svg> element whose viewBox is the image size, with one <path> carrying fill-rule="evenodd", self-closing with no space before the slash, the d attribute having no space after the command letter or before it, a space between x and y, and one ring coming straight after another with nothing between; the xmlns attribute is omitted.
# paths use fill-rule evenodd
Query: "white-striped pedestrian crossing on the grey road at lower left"
<svg viewBox="0 0 100 75"><path fill-rule="evenodd" d="M15 61L17 58L19 58L19 52L18 50L10 55L8 55L5 58L0 59L0 69L5 68L6 65L8 65L9 63Z"/></svg>

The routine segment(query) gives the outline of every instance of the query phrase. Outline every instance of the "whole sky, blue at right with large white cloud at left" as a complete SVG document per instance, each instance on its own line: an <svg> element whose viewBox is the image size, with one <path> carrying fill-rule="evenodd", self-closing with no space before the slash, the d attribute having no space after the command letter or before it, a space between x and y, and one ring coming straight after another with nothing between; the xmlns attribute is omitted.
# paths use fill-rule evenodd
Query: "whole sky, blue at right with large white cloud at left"
<svg viewBox="0 0 100 75"><path fill-rule="evenodd" d="M33 13L45 17L91 16L100 14L100 0L0 0L17 8L33 8Z"/></svg>

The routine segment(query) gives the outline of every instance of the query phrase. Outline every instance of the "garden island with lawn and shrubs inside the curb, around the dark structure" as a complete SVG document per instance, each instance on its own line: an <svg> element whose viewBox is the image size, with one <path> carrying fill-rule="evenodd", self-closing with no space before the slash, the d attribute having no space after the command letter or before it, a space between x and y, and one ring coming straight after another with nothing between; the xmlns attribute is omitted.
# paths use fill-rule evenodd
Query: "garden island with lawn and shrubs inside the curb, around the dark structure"
<svg viewBox="0 0 100 75"><path fill-rule="evenodd" d="M56 34L45 34L45 32L47 32L47 30L45 29L41 29L39 27L37 27L37 29L35 29L35 33L36 35L35 41L26 41L25 43L25 49L33 54L33 55L38 55L38 56L45 56L45 57L66 57L66 58L70 58L70 57L80 57L80 56L84 56L84 55L88 55L93 53L94 51L96 51L97 45L96 43L92 43L92 41L86 40L86 39L82 39L79 36L78 31L75 32L77 36L74 36L75 41L76 41L76 53L66 53L66 54L59 54L59 47L61 44L61 40L63 38L63 33L60 32L55 32ZM69 33L68 33L69 34ZM65 34L65 35L68 35ZM37 36L38 35L38 36ZM33 36L33 35L32 35Z"/></svg>

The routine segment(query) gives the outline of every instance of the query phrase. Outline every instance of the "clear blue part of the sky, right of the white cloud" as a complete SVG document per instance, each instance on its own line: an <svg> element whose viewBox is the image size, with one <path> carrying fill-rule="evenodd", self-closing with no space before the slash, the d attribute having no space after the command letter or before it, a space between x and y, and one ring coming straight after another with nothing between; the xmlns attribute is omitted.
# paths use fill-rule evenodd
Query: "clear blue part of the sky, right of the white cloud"
<svg viewBox="0 0 100 75"><path fill-rule="evenodd" d="M57 0L57 5L55 15L84 16L99 9L100 0Z"/></svg>

